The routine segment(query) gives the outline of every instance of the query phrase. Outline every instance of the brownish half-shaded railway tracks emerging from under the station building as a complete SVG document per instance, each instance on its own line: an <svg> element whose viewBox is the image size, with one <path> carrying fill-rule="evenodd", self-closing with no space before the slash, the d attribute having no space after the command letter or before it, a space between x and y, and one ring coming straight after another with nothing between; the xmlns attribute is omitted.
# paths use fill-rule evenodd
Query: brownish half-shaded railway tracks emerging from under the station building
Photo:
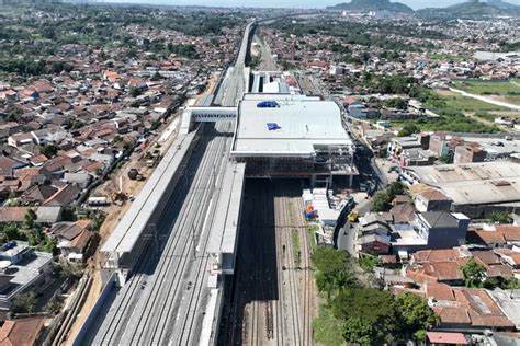
<svg viewBox="0 0 520 346"><path fill-rule="evenodd" d="M227 302L234 309L223 321L219 345L313 345L307 226L301 198L294 197L299 189L285 183L247 182L248 211L242 214L238 270ZM299 239L299 265L293 232ZM241 321L239 326L234 320Z"/></svg>

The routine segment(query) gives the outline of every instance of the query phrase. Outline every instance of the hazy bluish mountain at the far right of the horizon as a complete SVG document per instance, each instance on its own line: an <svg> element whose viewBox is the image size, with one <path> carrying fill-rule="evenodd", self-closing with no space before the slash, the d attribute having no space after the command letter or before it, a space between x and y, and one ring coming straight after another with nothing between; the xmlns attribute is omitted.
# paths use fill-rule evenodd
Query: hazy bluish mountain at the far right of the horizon
<svg viewBox="0 0 520 346"><path fill-rule="evenodd" d="M436 18L478 18L484 15L518 15L520 14L520 7L502 0L487 0L487 2L471 0L443 9L430 8L417 12L419 15Z"/></svg>

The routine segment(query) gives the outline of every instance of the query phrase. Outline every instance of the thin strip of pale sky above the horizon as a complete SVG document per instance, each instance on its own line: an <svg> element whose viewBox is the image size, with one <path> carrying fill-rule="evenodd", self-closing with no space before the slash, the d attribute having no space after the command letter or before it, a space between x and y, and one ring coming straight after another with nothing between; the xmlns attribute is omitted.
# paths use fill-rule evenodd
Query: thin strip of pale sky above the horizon
<svg viewBox="0 0 520 346"><path fill-rule="evenodd" d="M454 3L464 2L464 0L391 0L392 2L402 2L412 9L421 8L442 8ZM513 4L520 4L520 0L506 0ZM101 1L99 1L101 2ZM104 2L125 2L125 3L159 3L173 5L207 5L207 7L262 7L262 8L325 8L350 0L105 0Z"/></svg>

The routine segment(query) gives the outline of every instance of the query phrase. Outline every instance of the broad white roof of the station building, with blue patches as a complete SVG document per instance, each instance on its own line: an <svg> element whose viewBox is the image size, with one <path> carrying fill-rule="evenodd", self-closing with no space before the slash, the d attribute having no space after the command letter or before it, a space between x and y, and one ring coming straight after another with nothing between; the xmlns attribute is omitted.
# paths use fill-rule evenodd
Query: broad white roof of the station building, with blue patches
<svg viewBox="0 0 520 346"><path fill-rule="evenodd" d="M279 106L258 107L262 101ZM239 104L235 136L235 157L313 157L317 145L352 145L335 102L290 94L246 95Z"/></svg>

